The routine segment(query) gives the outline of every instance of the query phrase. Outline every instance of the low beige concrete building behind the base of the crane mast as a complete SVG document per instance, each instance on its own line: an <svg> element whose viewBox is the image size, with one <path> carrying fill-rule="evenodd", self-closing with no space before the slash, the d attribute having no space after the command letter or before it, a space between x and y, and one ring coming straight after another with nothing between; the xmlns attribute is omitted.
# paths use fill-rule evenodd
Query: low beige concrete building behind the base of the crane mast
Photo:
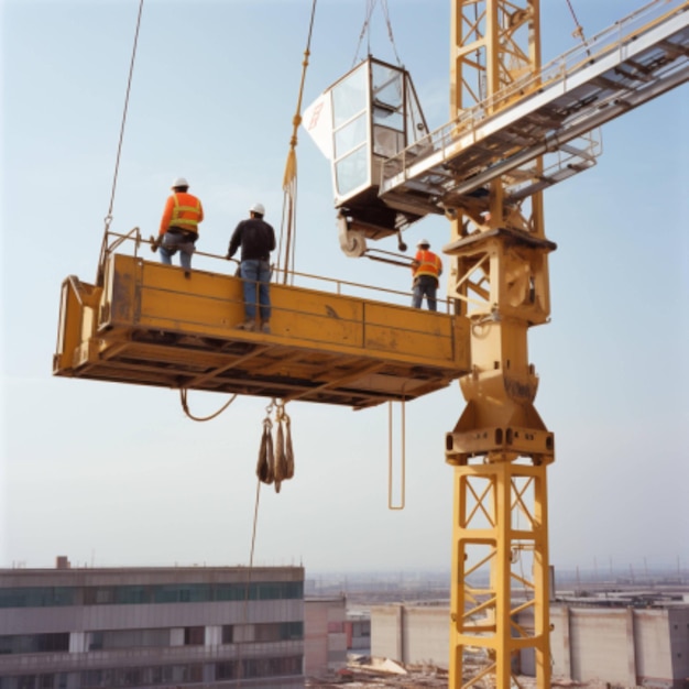
<svg viewBox="0 0 689 689"><path fill-rule="evenodd" d="M621 687L689 687L689 605L551 606L553 675ZM528 615L518 623L533 628ZM448 667L449 608L390 604L371 608L371 655L407 665ZM533 650L515 668L534 676Z"/></svg>

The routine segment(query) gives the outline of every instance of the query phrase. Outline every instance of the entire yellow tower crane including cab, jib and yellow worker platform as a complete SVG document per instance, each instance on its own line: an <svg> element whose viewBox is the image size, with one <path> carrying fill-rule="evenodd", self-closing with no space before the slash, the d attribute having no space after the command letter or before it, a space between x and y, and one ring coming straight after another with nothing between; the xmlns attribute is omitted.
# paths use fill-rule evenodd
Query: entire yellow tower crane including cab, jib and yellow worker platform
<svg viewBox="0 0 689 689"><path fill-rule="evenodd" d="M689 79L689 0L654 0L548 65L539 0L451 7L447 124L429 131L406 70L373 57L303 120L331 161L346 253L386 260L367 242L401 238L429 214L450 220L448 313L292 273L288 285L271 287L272 331L238 330L240 278L221 269L187 280L144 258L138 228L108 229L95 283L63 283L53 371L183 396L203 390L354 408L459 380L467 405L445 442L455 472L449 686L490 678L507 689L515 657L532 654L546 689L555 442L534 406L527 348L528 329L550 314L556 247L542 193L595 163L600 124ZM469 667L474 652L485 661Z"/></svg>

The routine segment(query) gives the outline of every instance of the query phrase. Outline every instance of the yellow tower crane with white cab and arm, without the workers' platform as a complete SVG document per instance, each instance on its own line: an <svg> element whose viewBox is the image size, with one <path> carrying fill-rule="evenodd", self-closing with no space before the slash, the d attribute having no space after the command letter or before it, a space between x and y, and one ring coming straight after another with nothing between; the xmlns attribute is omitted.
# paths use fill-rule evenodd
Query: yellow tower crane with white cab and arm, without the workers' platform
<svg viewBox="0 0 689 689"><path fill-rule="evenodd" d="M428 214L451 221L448 296L469 322L470 371L460 378L467 406L446 436L455 467L449 686L492 676L507 689L513 663L532 654L545 689L546 471L555 440L534 406L538 378L527 348L528 329L550 315L556 245L545 236L543 190L595 164L600 124L689 79L689 3L650 2L545 66L538 0L453 0L451 8L446 125L428 132L406 74L405 86L391 89L394 68L372 58L326 91L305 121L332 161L347 253L370 255L367 240ZM368 140L350 133L364 111L352 108L364 72ZM409 94L404 110L415 127L390 124L400 107L391 90ZM319 124L324 111L331 139ZM391 153L402 139L407 146ZM483 664L466 665L472 649Z"/></svg>

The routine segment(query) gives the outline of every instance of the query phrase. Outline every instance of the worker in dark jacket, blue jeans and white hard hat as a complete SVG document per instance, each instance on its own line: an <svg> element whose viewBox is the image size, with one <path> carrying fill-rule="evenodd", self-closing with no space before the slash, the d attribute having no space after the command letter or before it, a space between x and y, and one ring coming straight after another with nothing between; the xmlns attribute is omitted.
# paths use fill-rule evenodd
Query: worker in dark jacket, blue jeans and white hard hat
<svg viewBox="0 0 689 689"><path fill-rule="evenodd" d="M254 204L249 209L249 218L241 220L230 239L227 259L231 259L239 247L242 248L240 276L244 283L244 320L237 327L241 330L256 329L256 305L259 306L263 332L271 331L271 251L275 249L275 231L263 216L263 204Z"/></svg>

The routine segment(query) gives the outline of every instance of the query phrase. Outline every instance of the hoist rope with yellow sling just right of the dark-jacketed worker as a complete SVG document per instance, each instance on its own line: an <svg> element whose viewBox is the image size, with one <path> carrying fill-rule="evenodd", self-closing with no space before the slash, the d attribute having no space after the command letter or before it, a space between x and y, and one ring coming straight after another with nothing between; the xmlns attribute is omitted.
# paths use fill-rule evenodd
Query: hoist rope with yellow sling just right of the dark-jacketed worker
<svg viewBox="0 0 689 689"><path fill-rule="evenodd" d="M299 92L297 97L297 107L294 118L292 119L292 138L289 139L289 152L287 153L287 162L285 164L285 174L283 176L283 218L282 229L280 233L280 249L277 261L280 263L282 255L283 238L285 239L284 270L283 283L287 282L287 276L294 272L294 247L296 243L296 195L297 195L297 155L296 146L298 143L297 131L302 124L302 100L304 98L304 84L306 81L306 69L308 68L308 58L310 55L311 36L314 33L314 19L316 17L316 1L311 4L311 17L308 24L308 37L306 40L306 50L304 51L304 62L302 63L302 80L299 83ZM286 222L286 228L285 228Z"/></svg>

